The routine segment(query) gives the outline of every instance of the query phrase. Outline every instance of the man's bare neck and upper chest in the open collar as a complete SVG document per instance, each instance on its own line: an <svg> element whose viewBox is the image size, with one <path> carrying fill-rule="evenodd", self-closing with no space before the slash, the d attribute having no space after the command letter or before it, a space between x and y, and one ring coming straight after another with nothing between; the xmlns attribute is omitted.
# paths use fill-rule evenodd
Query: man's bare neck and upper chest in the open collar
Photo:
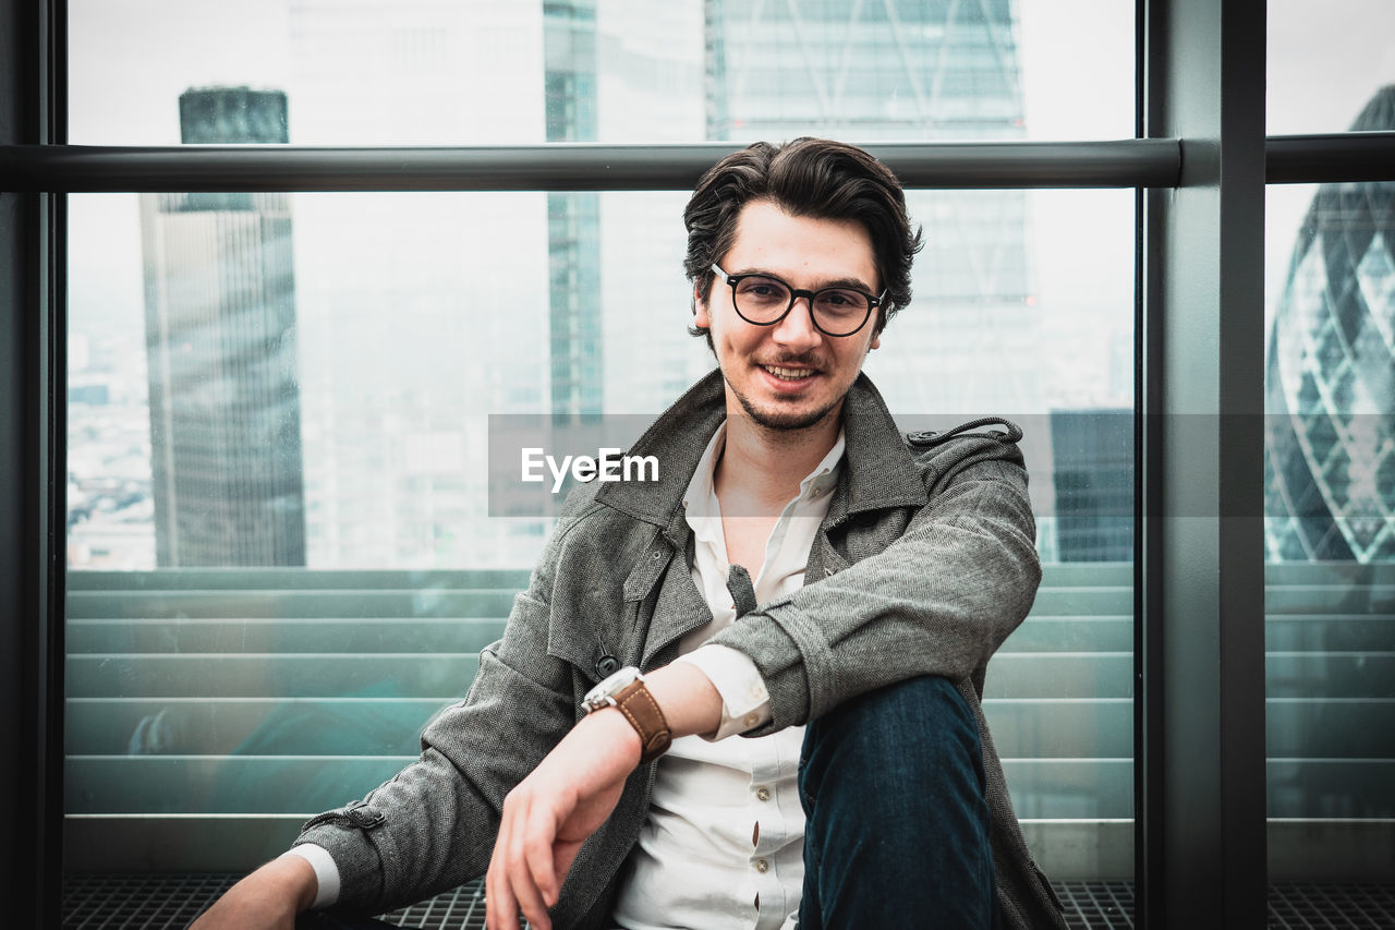
<svg viewBox="0 0 1395 930"><path fill-rule="evenodd" d="M759 517L778 514L799 493L799 482L838 440L843 405L802 430L773 430L745 412L727 416L727 440L714 473L723 511Z"/></svg>

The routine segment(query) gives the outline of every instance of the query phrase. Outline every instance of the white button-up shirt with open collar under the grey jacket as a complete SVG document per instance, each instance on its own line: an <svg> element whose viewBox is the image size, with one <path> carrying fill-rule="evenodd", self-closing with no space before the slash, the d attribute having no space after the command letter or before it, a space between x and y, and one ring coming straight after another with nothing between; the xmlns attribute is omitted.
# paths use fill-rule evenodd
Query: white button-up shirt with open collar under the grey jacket
<svg viewBox="0 0 1395 930"><path fill-rule="evenodd" d="M679 662L702 669L723 698L711 739L685 736L658 760L649 820L629 855L615 922L626 930L778 930L792 927L804 887L804 810L797 776L804 728L725 739L770 719L770 695L755 663L720 645L702 645L737 620L727 591L727 543L713 487L725 425L707 444L684 496L695 538L693 584L711 623L679 642ZM844 440L799 483L766 540L756 602L798 589L819 524L837 485Z"/></svg>

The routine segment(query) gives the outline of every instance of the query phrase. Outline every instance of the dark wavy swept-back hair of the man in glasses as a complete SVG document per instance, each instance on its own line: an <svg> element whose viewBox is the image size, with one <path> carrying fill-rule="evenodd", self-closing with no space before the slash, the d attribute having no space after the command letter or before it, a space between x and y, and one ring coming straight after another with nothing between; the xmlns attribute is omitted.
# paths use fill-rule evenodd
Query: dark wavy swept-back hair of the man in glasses
<svg viewBox="0 0 1395 930"><path fill-rule="evenodd" d="M921 230L911 230L905 194L896 175L868 152L826 138L797 138L783 145L753 142L713 165L684 209L688 254L684 271L702 299L711 297L721 260L737 239L737 216L757 200L778 205L791 216L854 219L872 237L877 275L886 303L877 307L873 332L882 332L911 302L911 263L921 250ZM711 334L689 327L696 337Z"/></svg>

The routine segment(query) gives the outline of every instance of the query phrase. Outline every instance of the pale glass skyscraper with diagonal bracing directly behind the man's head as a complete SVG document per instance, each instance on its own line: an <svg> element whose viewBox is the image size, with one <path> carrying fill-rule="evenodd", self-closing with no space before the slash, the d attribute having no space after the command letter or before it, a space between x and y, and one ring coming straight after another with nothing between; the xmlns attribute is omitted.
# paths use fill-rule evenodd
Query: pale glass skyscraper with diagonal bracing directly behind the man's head
<svg viewBox="0 0 1395 930"><path fill-rule="evenodd" d="M1011 0L706 0L710 138L823 134L1010 140L1025 133ZM901 413L1041 402L1024 191L910 191L926 229L914 303L868 371Z"/></svg>

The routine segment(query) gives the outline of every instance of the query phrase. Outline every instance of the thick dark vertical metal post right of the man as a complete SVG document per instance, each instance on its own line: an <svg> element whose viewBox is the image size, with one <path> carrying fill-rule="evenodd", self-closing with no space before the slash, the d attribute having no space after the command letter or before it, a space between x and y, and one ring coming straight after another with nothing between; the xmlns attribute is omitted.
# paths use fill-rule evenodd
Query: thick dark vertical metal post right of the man
<svg viewBox="0 0 1395 930"><path fill-rule="evenodd" d="M1183 140L1141 216L1138 917L1261 927L1264 443L1221 415L1264 412L1265 7L1138 14L1141 131Z"/></svg>

